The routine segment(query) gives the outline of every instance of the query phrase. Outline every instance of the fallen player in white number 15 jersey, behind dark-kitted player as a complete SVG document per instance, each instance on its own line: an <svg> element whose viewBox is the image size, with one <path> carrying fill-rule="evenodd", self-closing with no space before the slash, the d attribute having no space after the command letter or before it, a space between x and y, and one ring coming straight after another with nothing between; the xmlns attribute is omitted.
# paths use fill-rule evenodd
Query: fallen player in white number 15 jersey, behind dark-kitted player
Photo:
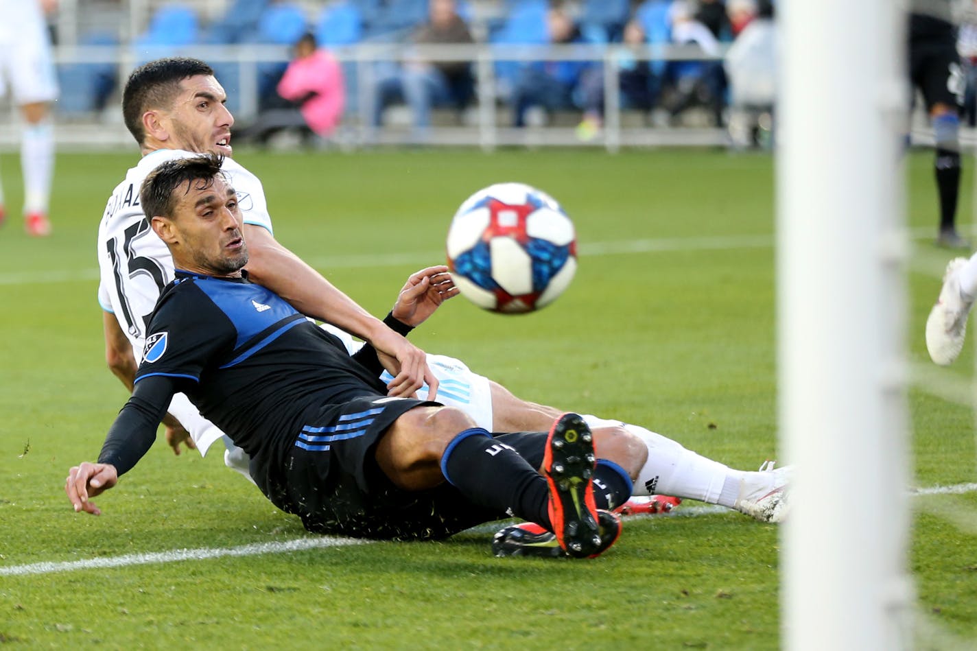
<svg viewBox="0 0 977 651"><path fill-rule="evenodd" d="M173 278L172 260L162 241L149 229L138 188L152 168L169 158L189 152L225 156L233 153L230 142L234 118L224 107L225 100L224 89L211 68L191 59L165 59L141 66L130 76L123 92L125 121L144 157L129 170L106 205L99 232L99 295L106 310L106 358L109 367L130 389L145 344L144 318L160 288ZM224 171L239 194L244 236L251 250L246 268L249 278L276 291L300 312L320 321L328 320L369 340L378 350L387 350L369 338L373 332L362 326L364 313L352 300L275 241L258 179L231 158L225 159ZM411 276L404 286L392 316L406 329L419 325L444 298L455 293L453 285L439 281L443 272L444 268L424 270ZM336 315L341 311L331 303L333 300L355 318L338 319ZM413 313L418 306L420 309ZM390 333L400 341L400 335ZM344 336L353 346L349 335ZM409 381L399 375L388 377L388 382L392 395L415 391L427 395L426 384L430 385L431 399L468 412L489 431L545 431L561 413L520 400L498 383L471 372L460 361L442 356L429 356L424 372L417 371ZM186 435L177 421L186 427L201 454L222 435L186 398L175 398L170 413L175 418L165 422L167 440L175 451L179 451L180 442L185 440L182 436ZM784 469L734 470L643 427L595 416L586 418L596 428L598 446L621 446L630 452L632 467L622 470L635 481L635 495L662 493L700 499L737 508L762 520L778 520L786 512L782 499L787 481ZM227 438L225 442L228 443ZM239 455L240 451L229 448L226 460L246 474L245 459Z"/></svg>

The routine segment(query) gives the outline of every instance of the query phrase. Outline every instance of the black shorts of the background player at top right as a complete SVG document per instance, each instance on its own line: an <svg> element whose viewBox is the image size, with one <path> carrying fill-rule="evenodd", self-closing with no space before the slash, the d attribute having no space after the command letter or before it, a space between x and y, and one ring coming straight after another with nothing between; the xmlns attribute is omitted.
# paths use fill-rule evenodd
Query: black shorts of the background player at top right
<svg viewBox="0 0 977 651"><path fill-rule="evenodd" d="M913 14L909 65L913 87L922 93L927 111L937 104L959 107L965 79L952 24Z"/></svg>

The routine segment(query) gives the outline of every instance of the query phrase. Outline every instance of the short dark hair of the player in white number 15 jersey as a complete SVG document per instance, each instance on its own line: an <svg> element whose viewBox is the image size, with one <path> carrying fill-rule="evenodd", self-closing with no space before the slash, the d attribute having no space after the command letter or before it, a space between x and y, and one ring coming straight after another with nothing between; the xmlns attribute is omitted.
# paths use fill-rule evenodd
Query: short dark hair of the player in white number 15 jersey
<svg viewBox="0 0 977 651"><path fill-rule="evenodd" d="M122 117L129 133L140 145L146 140L143 114L149 109L169 109L180 93L180 82L197 74L214 73L199 59L171 57L140 65L122 90Z"/></svg>

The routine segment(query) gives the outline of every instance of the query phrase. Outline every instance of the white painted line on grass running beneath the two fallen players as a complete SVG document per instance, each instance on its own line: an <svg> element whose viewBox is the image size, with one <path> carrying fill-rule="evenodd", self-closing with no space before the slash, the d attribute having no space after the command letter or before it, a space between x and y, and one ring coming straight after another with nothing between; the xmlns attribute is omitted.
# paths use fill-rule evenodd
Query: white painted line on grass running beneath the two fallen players
<svg viewBox="0 0 977 651"><path fill-rule="evenodd" d="M913 496L929 495L963 495L977 492L977 484L955 484L953 486L931 486L928 488L911 489ZM717 513L732 513L725 506L703 505L683 506L674 511L669 517L699 517ZM635 516L638 517L638 516ZM473 531L493 532L496 525L487 523L475 527ZM254 542L238 547L200 547L197 549L172 549L170 551L156 551L141 554L125 554L123 556L109 556L106 558L86 558L76 561L30 563L26 565L10 565L0 567L0 577L24 577L38 574L54 574L57 572L74 572L76 570L97 570L130 565L147 565L149 563L173 563L186 560L204 560L207 558L224 558L227 556L254 556L257 554L287 553L289 551L303 551L305 549L320 549L325 547L341 547L351 544L369 544L371 541L353 538L338 538L332 536L317 536L315 538L298 538L281 542Z"/></svg>

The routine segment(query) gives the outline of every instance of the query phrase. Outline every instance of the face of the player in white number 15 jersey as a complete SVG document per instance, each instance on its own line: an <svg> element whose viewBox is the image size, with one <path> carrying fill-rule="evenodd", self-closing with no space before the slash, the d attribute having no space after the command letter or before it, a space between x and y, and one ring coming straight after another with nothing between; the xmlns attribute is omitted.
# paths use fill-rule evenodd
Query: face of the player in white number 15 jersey
<svg viewBox="0 0 977 651"><path fill-rule="evenodd" d="M234 115L225 106L224 88L212 75L197 74L180 82L181 92L166 111L172 149L230 156Z"/></svg>

